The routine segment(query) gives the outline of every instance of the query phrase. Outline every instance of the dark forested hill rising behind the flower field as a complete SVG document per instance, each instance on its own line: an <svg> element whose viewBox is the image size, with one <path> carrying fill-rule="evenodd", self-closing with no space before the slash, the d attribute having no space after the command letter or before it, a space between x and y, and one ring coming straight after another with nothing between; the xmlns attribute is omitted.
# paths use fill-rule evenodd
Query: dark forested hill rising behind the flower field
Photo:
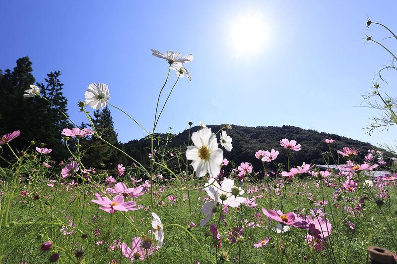
<svg viewBox="0 0 397 264"><path fill-rule="evenodd" d="M216 133L222 129L224 125L208 125L212 132ZM192 127L190 133L199 130L199 126ZM305 130L295 126L282 127L277 126L257 126L247 127L232 125L232 129L225 129L227 134L232 138L233 149L231 152L226 151L224 148L219 146L223 150L224 158L234 162L235 166L238 166L241 162L249 162L253 165L254 171L263 170L262 161L255 158L255 153L259 150L271 149L279 151L278 157L275 159L277 163L283 163L287 165L287 149L280 146L280 140L286 138L288 140L296 140L297 144L301 144L302 149L300 151L289 151L289 164L290 166L300 166L303 162L307 164L326 164L325 158L329 158L329 163L334 164L334 161L330 155L323 155L326 152L330 152L329 146L324 142L324 139L335 140L330 144L331 153L337 163L345 163L345 159L341 155L337 154L337 151L342 151L344 147L355 148L359 150L357 157L354 161L362 163L365 155L368 154L368 150L372 150L375 147L369 143L364 143L358 140L338 136L336 134L328 134L325 132L317 132L316 130ZM220 133L217 134L219 140ZM162 139L159 146L164 148L167 134L156 134L156 137ZM175 134L168 134L168 137L172 138L165 149L173 150L183 153L186 151L189 140L189 129ZM190 140L190 144L192 141ZM157 146L157 143L155 144ZM148 154L150 153L150 140L140 139L132 140L124 144L126 153L129 154L136 161L142 165L149 166ZM158 151L158 148L157 148ZM184 157L184 156L183 156ZM339 160L338 160L339 158ZM169 166L175 166L176 160L171 162ZM128 165L132 165L132 161L129 160ZM233 168L232 166L228 166ZM265 162L266 170L277 170L277 166L270 162Z"/></svg>

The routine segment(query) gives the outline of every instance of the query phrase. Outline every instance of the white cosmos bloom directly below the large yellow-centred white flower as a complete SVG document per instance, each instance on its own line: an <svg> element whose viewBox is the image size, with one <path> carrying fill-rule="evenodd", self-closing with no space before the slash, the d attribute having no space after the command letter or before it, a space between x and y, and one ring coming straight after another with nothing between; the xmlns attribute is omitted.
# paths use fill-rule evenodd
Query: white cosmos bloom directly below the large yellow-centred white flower
<svg viewBox="0 0 397 264"><path fill-rule="evenodd" d="M221 186L219 186L218 182L216 182L215 179L211 179L208 184L212 184L204 188L208 196L213 200L217 199L218 201L223 201L223 205L228 205L232 208L236 208L240 205L240 203L244 203L246 201L244 197L241 197L245 193L244 190L242 190L241 188L239 188L239 196L234 196L232 194L232 188L234 185L233 179L223 180Z"/></svg>

